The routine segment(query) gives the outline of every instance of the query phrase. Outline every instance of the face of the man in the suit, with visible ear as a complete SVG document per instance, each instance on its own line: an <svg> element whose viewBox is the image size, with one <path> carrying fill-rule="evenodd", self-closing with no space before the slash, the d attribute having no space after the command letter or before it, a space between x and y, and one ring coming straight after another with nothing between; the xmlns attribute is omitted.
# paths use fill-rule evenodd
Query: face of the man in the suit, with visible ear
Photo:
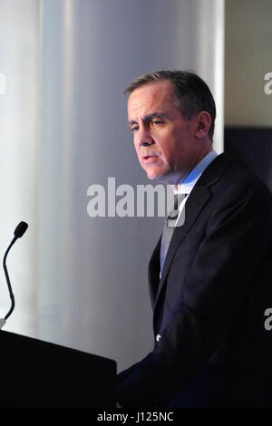
<svg viewBox="0 0 272 426"><path fill-rule="evenodd" d="M128 124L138 160L149 179L180 183L199 162L203 146L199 143L198 116L183 118L173 102L170 81L151 82L131 92Z"/></svg>

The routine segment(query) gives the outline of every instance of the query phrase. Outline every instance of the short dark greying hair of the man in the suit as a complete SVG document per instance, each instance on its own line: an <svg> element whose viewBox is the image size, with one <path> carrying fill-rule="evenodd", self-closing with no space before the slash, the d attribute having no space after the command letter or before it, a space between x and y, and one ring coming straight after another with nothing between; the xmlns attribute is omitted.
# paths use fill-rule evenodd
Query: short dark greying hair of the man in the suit
<svg viewBox="0 0 272 426"><path fill-rule="evenodd" d="M190 71L153 71L144 73L135 78L123 92L125 94L131 93L144 84L161 80L170 80L172 82L174 103L186 120L190 120L201 111L209 112L211 118L209 139L212 141L216 106L208 85L196 73Z"/></svg>

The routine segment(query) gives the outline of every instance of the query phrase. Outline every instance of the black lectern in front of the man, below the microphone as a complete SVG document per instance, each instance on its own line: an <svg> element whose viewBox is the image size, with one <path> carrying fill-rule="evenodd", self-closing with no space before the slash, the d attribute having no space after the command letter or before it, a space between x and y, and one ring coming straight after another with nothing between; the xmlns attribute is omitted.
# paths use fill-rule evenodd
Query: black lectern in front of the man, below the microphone
<svg viewBox="0 0 272 426"><path fill-rule="evenodd" d="M0 407L115 407L116 363L0 331Z"/></svg>

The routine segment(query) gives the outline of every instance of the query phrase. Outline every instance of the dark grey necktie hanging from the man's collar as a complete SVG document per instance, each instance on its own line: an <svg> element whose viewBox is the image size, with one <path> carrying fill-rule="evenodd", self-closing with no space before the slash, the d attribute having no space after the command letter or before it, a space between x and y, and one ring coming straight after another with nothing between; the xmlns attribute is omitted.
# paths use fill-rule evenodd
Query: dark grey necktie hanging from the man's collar
<svg viewBox="0 0 272 426"><path fill-rule="evenodd" d="M164 221L163 232L160 243L160 276L162 273L162 268L168 249L170 247L170 240L175 230L175 223L179 216L179 207L182 199L186 197L185 194L175 194L174 195L174 204L168 213L167 218Z"/></svg>

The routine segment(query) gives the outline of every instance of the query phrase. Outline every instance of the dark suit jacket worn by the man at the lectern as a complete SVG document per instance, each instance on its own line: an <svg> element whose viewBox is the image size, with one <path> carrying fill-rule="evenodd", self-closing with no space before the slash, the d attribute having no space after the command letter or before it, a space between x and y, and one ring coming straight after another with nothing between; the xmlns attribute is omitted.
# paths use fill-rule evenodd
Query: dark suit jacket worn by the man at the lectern
<svg viewBox="0 0 272 426"><path fill-rule="evenodd" d="M149 265L154 349L118 375L124 407L272 405L272 197L220 154Z"/></svg>

